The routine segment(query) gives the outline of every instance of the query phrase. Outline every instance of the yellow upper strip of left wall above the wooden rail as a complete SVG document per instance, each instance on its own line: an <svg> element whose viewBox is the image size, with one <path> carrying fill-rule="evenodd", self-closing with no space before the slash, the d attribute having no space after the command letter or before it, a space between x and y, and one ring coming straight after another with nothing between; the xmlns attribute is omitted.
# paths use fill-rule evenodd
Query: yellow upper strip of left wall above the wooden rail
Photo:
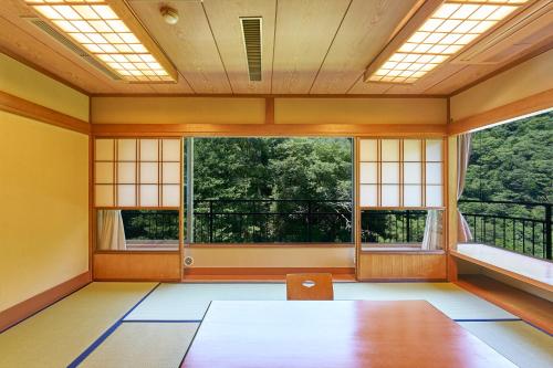
<svg viewBox="0 0 553 368"><path fill-rule="evenodd" d="M88 96L2 53L0 91L88 122Z"/></svg>

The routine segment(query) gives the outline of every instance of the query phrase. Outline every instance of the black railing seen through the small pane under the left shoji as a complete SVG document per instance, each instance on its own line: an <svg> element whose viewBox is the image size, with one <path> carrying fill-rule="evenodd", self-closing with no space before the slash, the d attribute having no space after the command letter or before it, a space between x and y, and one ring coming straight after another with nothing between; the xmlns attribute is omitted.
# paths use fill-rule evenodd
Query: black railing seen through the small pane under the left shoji
<svg viewBox="0 0 553 368"><path fill-rule="evenodd" d="M121 215L127 242L176 240L178 243L178 211L123 210Z"/></svg>

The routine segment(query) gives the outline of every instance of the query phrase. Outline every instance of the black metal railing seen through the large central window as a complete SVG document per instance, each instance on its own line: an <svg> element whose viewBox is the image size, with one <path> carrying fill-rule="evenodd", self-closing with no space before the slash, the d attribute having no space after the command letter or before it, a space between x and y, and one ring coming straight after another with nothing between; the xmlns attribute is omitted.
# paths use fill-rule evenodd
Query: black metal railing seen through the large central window
<svg viewBox="0 0 553 368"><path fill-rule="evenodd" d="M196 243L352 242L351 200L197 200Z"/></svg>

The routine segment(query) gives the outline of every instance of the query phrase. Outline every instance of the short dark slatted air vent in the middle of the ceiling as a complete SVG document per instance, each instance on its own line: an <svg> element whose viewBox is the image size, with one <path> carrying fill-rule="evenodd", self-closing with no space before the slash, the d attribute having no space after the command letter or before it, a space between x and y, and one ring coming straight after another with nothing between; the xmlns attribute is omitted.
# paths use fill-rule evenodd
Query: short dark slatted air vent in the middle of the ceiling
<svg viewBox="0 0 553 368"><path fill-rule="evenodd" d="M250 81L261 81L261 17L240 18Z"/></svg>

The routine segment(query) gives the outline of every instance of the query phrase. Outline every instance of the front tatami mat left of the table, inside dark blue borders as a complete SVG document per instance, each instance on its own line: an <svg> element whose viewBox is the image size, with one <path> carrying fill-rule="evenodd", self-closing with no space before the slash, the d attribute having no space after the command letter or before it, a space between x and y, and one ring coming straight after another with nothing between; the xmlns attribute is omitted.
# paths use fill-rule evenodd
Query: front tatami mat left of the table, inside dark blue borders
<svg viewBox="0 0 553 368"><path fill-rule="evenodd" d="M79 367L178 367L197 323L124 323Z"/></svg>

